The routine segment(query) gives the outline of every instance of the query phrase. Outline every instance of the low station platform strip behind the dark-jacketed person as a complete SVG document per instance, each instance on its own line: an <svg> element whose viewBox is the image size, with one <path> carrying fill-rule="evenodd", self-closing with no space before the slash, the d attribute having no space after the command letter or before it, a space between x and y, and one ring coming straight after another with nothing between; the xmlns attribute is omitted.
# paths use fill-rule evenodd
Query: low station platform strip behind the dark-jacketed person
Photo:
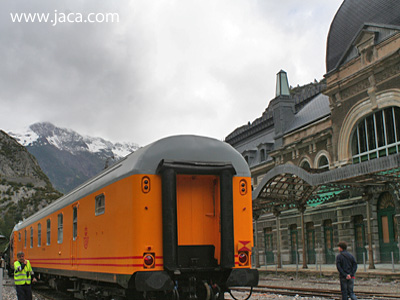
<svg viewBox="0 0 400 300"><path fill-rule="evenodd" d="M253 266L254 267L254 266ZM260 278L269 274L289 275L289 276L315 276L315 277L338 277L335 264L307 265L303 269L302 265L283 265L277 268L276 265L260 266ZM356 278L387 278L388 280L400 280L400 264L375 264L375 269L370 269L369 265L358 264Z"/></svg>

